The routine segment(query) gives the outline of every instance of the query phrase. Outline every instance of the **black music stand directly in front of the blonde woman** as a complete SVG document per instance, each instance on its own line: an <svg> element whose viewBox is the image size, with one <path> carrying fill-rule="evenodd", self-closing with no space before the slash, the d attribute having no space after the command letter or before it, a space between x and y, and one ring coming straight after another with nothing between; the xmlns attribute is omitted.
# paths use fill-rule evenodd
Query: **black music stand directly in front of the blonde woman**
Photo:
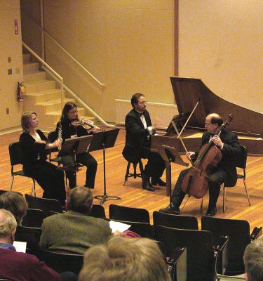
<svg viewBox="0 0 263 281"><path fill-rule="evenodd" d="M58 157L67 155L74 155L74 166L75 171L78 170L78 164L76 163L76 155L86 152L88 145L90 145L93 136L79 136L77 138L67 138L62 145ZM66 168L67 169L67 168Z"/></svg>

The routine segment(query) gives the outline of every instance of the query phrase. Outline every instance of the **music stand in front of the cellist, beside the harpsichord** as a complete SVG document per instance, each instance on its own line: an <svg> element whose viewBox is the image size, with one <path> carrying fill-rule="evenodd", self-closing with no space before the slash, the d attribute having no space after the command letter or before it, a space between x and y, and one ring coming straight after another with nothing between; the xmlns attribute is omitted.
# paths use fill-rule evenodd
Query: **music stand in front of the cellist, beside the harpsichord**
<svg viewBox="0 0 263 281"><path fill-rule="evenodd" d="M168 187L168 195L170 197L170 207L172 207L171 195L172 195L172 172L171 163L180 164L181 166L188 166L189 164L184 162L179 153L172 146L161 145L158 149L159 155L166 162L166 184Z"/></svg>

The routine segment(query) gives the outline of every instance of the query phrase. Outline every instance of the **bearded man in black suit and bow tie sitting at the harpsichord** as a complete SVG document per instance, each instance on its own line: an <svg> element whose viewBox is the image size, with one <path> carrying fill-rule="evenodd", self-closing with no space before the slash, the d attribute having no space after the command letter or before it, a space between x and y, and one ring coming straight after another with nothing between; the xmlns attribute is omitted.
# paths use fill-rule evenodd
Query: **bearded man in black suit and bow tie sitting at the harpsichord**
<svg viewBox="0 0 263 281"><path fill-rule="evenodd" d="M123 157L130 162L138 162L141 158L148 159L142 176L142 188L154 191L152 185L166 186L166 183L161 180L166 164L159 153L150 150L150 136L156 131L151 125L144 95L135 93L130 102L133 110L130 110L125 119L126 144Z"/></svg>

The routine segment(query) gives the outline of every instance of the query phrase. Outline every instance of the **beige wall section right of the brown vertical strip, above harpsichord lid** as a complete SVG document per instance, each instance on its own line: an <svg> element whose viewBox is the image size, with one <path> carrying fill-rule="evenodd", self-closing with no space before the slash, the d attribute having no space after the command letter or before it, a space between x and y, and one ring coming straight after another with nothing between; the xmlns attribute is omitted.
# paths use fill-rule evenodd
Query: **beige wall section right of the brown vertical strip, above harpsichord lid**
<svg viewBox="0 0 263 281"><path fill-rule="evenodd" d="M263 1L180 0L179 74L263 112Z"/></svg>

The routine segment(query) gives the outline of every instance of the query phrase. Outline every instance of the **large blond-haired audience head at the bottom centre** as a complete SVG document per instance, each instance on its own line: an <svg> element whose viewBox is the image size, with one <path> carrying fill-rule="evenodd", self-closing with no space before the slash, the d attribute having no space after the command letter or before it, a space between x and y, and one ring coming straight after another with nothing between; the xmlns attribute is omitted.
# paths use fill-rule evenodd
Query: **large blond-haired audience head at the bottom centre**
<svg viewBox="0 0 263 281"><path fill-rule="evenodd" d="M168 281L170 276L154 240L114 236L86 251L79 281L86 280Z"/></svg>

